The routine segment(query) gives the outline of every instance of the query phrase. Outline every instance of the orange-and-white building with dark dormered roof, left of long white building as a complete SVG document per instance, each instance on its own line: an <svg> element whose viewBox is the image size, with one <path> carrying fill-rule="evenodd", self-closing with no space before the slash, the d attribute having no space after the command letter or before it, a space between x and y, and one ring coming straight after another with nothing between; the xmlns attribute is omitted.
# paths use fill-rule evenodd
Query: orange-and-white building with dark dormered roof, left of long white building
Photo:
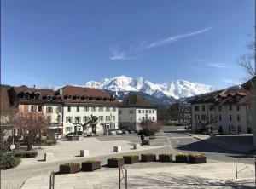
<svg viewBox="0 0 256 189"><path fill-rule="evenodd" d="M9 89L9 99L23 115L44 117L49 129L62 133L62 100L53 89L36 89L26 86Z"/></svg>

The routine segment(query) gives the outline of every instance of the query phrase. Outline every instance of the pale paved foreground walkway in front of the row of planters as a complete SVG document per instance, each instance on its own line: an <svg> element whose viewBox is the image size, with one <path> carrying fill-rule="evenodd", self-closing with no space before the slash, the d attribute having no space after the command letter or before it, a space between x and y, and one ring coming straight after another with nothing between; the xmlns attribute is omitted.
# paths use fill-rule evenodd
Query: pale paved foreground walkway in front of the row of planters
<svg viewBox="0 0 256 189"><path fill-rule="evenodd" d="M234 163L177 164L161 168L128 169L128 188L253 188L253 165L236 178ZM238 163L238 169L244 165ZM124 186L122 186L124 187ZM26 180L21 189L48 189L49 175ZM55 175L55 189L119 188L119 169Z"/></svg>

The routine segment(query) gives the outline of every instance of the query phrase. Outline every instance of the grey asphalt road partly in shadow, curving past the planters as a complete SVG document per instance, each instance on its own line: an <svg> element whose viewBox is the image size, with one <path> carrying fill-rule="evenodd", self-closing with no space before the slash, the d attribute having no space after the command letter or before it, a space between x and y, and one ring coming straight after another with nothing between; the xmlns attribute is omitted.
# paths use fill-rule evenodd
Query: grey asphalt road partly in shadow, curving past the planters
<svg viewBox="0 0 256 189"><path fill-rule="evenodd" d="M165 126L163 134L167 137L167 145L172 152L202 152L207 156L207 159L212 161L235 162L241 158L243 163L253 164L252 154L238 154L232 150L224 150L218 146L213 146L205 140L197 140L192 136L185 135L183 127ZM234 146L236 149L236 146Z"/></svg>

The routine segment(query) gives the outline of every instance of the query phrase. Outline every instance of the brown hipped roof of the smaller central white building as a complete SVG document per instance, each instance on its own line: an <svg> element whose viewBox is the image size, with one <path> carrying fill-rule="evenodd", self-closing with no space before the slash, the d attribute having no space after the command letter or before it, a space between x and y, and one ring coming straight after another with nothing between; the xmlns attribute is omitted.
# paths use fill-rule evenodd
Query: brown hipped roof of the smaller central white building
<svg viewBox="0 0 256 189"><path fill-rule="evenodd" d="M152 107L148 100L144 100L143 97L137 94L129 95L122 103L121 107Z"/></svg>

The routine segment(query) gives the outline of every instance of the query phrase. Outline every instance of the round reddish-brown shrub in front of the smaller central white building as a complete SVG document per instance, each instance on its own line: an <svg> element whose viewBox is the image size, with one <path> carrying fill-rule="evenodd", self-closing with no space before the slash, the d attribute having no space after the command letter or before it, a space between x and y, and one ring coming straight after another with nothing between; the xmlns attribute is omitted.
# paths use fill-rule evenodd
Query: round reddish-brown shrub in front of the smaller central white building
<svg viewBox="0 0 256 189"><path fill-rule="evenodd" d="M160 123L153 122L151 120L142 121L140 123L142 127L143 134L146 136L154 135L156 132L159 132L162 128Z"/></svg>

